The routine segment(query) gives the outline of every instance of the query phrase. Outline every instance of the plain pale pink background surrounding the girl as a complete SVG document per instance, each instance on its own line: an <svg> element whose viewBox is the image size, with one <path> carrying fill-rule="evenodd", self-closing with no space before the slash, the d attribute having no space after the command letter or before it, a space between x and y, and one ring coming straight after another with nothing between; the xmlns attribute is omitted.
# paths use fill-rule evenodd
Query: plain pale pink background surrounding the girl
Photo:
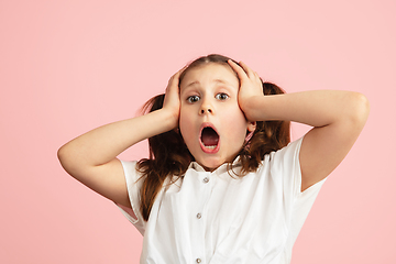
<svg viewBox="0 0 396 264"><path fill-rule="evenodd" d="M367 96L367 124L323 186L292 263L396 263L395 11L391 0L1 0L0 263L138 263L141 235L69 177L56 151L133 117L209 53L288 92ZM145 155L139 144L121 157Z"/></svg>

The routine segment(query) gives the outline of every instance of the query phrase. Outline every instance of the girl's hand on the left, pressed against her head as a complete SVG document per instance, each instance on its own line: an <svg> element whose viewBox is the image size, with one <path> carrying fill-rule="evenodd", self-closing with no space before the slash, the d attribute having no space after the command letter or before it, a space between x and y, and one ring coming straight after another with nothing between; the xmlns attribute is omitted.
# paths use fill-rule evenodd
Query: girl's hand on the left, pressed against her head
<svg viewBox="0 0 396 264"><path fill-rule="evenodd" d="M182 68L179 72L174 74L166 87L165 99L163 109L169 111L170 117L173 119L173 129L178 127L178 119L180 113L180 91L179 91L179 77L183 70L186 69L187 66Z"/></svg>

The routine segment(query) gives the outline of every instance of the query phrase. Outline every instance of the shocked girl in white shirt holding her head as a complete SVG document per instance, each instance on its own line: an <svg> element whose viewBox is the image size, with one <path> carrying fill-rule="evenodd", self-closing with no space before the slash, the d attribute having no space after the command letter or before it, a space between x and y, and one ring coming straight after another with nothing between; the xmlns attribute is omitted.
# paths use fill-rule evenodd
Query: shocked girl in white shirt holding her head
<svg viewBox="0 0 396 264"><path fill-rule="evenodd" d="M244 63L209 55L176 73L145 109L58 151L72 176L144 235L141 263L286 264L369 102L351 91L286 95ZM314 128L289 143L289 121ZM150 158L117 158L144 139Z"/></svg>

